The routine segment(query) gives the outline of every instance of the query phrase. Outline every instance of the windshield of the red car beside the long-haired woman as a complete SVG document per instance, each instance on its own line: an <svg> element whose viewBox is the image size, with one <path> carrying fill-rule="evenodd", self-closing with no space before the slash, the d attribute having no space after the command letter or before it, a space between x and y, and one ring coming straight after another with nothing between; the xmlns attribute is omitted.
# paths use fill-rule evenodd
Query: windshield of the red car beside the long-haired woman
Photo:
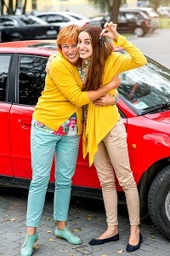
<svg viewBox="0 0 170 256"><path fill-rule="evenodd" d="M170 73L148 58L144 67L121 74L120 97L137 113L150 111L170 102Z"/></svg>

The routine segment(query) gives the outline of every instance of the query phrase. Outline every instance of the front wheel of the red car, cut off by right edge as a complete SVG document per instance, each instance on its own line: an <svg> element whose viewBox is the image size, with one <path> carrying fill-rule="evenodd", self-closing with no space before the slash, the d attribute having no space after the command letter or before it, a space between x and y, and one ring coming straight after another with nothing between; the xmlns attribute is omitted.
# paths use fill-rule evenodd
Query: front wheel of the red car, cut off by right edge
<svg viewBox="0 0 170 256"><path fill-rule="evenodd" d="M170 239L170 166L163 168L151 183L148 208L153 224Z"/></svg>

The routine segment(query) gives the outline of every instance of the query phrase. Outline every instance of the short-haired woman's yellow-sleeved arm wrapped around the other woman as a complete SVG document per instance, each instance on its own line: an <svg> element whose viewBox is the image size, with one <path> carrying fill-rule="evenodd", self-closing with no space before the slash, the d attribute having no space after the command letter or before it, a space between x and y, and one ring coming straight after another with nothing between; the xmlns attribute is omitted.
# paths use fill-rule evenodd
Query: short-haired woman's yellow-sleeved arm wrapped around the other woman
<svg viewBox="0 0 170 256"><path fill-rule="evenodd" d="M116 89L121 81L120 77L117 76L109 84L100 86L98 90L82 91L82 81L77 67L73 67L68 61L59 61L57 58L51 61L49 76L61 93L77 107L94 102L95 99L104 96L110 90ZM76 77L78 77L80 84Z"/></svg>

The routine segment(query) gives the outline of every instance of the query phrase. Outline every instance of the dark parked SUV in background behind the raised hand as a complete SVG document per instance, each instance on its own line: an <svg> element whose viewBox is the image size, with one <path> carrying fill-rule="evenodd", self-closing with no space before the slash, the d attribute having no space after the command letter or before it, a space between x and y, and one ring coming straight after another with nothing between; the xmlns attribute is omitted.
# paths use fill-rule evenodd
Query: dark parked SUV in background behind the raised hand
<svg viewBox="0 0 170 256"><path fill-rule="evenodd" d="M111 21L111 16L96 17L89 21L89 25L101 26ZM150 18L139 10L120 10L117 17L117 31L120 33L134 33L143 37L150 31Z"/></svg>

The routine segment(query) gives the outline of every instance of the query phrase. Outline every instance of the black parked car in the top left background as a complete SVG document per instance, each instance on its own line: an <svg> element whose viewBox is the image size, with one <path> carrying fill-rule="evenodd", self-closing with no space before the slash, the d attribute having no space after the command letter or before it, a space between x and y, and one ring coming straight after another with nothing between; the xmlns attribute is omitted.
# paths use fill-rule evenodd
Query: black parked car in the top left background
<svg viewBox="0 0 170 256"><path fill-rule="evenodd" d="M1 15L0 42L20 41L29 39L55 39L59 26L32 15Z"/></svg>

